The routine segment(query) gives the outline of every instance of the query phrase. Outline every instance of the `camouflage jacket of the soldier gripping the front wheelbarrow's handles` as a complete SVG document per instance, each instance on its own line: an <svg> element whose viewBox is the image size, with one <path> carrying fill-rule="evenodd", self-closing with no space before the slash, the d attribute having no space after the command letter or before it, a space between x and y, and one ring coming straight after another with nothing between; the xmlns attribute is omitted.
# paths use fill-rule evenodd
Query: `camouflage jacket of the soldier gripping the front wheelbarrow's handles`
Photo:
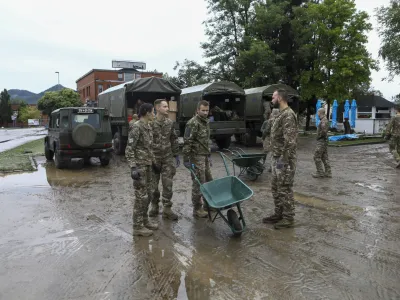
<svg viewBox="0 0 400 300"><path fill-rule="evenodd" d="M183 156L186 160L196 155L211 154L209 120L198 115L186 123Z"/></svg>

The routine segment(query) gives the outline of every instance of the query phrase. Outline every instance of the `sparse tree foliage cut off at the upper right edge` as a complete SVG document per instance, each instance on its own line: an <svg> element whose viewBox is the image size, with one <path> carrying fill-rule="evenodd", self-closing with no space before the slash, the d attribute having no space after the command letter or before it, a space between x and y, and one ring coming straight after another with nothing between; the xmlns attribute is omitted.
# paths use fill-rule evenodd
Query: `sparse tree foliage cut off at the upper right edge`
<svg viewBox="0 0 400 300"><path fill-rule="evenodd" d="M400 75L400 0L391 0L388 7L375 10L378 19L378 33L382 40L379 56L389 71L389 81Z"/></svg>

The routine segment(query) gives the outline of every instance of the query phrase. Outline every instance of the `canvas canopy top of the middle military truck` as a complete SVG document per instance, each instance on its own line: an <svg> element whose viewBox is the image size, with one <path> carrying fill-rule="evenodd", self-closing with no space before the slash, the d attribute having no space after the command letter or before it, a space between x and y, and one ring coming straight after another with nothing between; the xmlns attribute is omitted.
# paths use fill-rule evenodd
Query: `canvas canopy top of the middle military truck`
<svg viewBox="0 0 400 300"><path fill-rule="evenodd" d="M203 95L210 94L239 94L245 95L244 90L236 83L231 81L210 82L201 85L195 85L182 89L183 94L192 94L201 92Z"/></svg>

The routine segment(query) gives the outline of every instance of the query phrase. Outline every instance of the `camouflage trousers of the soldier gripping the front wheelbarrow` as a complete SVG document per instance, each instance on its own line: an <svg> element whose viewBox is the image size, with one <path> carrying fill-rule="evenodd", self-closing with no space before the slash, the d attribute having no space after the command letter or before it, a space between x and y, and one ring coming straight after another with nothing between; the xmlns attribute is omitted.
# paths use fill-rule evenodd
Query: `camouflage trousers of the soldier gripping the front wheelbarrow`
<svg viewBox="0 0 400 300"><path fill-rule="evenodd" d="M201 183L213 180L210 170L210 162L206 155L192 157L190 162L195 165L195 174ZM192 204L194 209L201 207L201 192L198 182L192 174Z"/></svg>

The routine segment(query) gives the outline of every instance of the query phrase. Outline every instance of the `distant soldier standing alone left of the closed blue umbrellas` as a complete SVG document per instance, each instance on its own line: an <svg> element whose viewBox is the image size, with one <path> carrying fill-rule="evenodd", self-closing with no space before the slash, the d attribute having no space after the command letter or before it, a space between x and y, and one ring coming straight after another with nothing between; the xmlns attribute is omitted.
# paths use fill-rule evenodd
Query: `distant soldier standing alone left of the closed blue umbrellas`
<svg viewBox="0 0 400 300"><path fill-rule="evenodd" d="M317 128L317 146L314 151L314 161L317 173L312 174L312 176L314 178L332 177L331 165L328 158L329 121L325 115L324 108L320 108L317 111L317 114L321 120ZM322 165L325 167L325 172Z"/></svg>

